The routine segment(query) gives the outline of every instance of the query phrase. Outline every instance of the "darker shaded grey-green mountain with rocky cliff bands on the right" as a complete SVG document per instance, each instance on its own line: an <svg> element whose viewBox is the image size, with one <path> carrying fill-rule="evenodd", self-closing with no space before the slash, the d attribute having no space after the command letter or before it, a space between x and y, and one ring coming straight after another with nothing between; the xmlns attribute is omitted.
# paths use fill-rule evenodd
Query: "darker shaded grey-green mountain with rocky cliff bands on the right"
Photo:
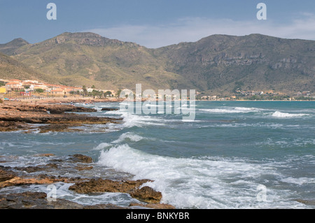
<svg viewBox="0 0 315 223"><path fill-rule="evenodd" d="M315 90L315 41L214 35L160 48L155 55L169 59L167 71L203 91Z"/></svg>

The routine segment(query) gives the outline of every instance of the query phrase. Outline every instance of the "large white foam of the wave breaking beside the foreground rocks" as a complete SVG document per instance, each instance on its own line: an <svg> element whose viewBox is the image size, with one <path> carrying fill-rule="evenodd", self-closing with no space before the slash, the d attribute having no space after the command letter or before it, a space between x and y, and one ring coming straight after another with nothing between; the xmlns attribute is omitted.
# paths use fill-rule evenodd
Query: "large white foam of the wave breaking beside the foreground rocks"
<svg viewBox="0 0 315 223"><path fill-rule="evenodd" d="M161 157L123 144L102 151L98 164L154 180L145 185L162 192L162 202L176 208L304 208L279 189L268 189L267 201L258 202L256 179L280 175L276 168L246 160Z"/></svg>

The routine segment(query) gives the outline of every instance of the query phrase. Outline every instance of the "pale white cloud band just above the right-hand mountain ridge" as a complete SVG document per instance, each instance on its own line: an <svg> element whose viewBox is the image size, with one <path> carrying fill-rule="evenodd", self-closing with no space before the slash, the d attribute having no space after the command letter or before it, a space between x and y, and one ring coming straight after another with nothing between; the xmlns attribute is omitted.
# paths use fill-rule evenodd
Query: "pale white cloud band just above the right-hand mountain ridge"
<svg viewBox="0 0 315 223"><path fill-rule="evenodd" d="M315 40L315 15L304 13L300 18L286 24L272 20L213 20L202 17L187 17L172 24L120 25L110 28L89 29L107 38L139 43L148 48L158 48L180 42L198 41L213 34L244 36L265 34L281 38L302 38Z"/></svg>

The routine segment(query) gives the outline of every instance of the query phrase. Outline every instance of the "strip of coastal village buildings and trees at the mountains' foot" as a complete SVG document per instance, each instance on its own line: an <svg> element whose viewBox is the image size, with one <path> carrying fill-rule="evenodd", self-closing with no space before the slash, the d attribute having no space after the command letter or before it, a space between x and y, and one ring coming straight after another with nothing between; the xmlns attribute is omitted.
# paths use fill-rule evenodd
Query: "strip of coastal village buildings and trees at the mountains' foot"
<svg viewBox="0 0 315 223"><path fill-rule="evenodd" d="M127 95L133 92L127 89L96 89L96 87L85 86L66 86L66 85L53 85L38 80L4 80L0 79L0 99L2 100L16 100L16 99L36 99L36 98L77 98L82 96L92 97L118 97L120 92L125 92ZM163 95L164 96L164 95ZM163 99L160 94L151 95L138 95L135 94L136 99ZM181 100L176 95L165 95L173 100ZM231 96L217 96L217 95L204 95L201 92L196 92L196 100L201 101L243 101L243 100L285 100L285 101L301 101L301 100L315 100L315 93L310 91L300 91L292 95L276 93L274 90L268 92L262 91L246 91L237 90Z"/></svg>

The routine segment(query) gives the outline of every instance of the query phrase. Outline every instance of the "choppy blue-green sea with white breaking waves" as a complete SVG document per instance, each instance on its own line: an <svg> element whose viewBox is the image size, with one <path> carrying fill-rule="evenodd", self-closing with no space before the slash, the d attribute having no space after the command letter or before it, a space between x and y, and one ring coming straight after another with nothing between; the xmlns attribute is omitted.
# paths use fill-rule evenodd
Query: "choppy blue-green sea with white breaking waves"
<svg viewBox="0 0 315 223"><path fill-rule="evenodd" d="M175 112L102 111L124 103L76 104L97 109L88 115L123 118L105 130L94 125L69 133L1 132L1 166L45 165L79 153L92 157L92 170L59 168L46 174L150 179L143 186L161 192L162 203L176 208L314 209L299 201L315 200L315 102L196 101L177 108L194 111L190 121ZM36 156L43 153L55 157ZM83 205L141 203L123 193L76 194L71 185L55 184L57 199ZM48 192L47 185L30 185L6 187L0 194L29 190Z"/></svg>

